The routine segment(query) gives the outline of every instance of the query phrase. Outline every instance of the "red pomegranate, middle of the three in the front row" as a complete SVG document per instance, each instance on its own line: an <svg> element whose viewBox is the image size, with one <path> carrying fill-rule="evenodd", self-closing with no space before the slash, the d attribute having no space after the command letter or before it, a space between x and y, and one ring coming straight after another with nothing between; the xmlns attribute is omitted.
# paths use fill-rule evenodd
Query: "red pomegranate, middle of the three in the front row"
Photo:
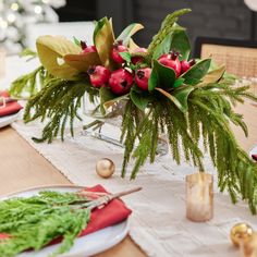
<svg viewBox="0 0 257 257"><path fill-rule="evenodd" d="M130 91L133 84L133 75L125 69L119 69L111 73L109 86L115 95L124 95Z"/></svg>

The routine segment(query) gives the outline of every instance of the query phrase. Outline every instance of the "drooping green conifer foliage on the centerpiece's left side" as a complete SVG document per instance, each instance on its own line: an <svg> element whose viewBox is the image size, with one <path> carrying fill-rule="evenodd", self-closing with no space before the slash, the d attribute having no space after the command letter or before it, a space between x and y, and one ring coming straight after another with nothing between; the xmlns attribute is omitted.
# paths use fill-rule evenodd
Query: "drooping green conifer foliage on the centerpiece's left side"
<svg viewBox="0 0 257 257"><path fill-rule="evenodd" d="M41 138L34 138L34 140L51 143L59 133L63 139L69 120L71 134L74 135L73 121L75 118L81 119L77 111L85 91L89 94L90 100L94 100L94 97L98 95L98 90L85 81L52 78L39 93L33 96L26 105L24 121L30 122L38 118L41 121L50 119L42 131Z"/></svg>

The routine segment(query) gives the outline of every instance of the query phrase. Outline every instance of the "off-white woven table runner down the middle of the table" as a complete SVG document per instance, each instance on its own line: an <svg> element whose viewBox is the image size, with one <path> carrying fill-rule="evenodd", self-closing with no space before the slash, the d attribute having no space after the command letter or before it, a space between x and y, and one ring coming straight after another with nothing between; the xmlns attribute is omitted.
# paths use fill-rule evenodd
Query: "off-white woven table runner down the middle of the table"
<svg viewBox="0 0 257 257"><path fill-rule="evenodd" d="M9 68L17 65L9 62ZM8 70L10 71L10 70ZM8 74L14 78L17 74ZM17 70L19 71L19 70ZM21 72L21 71L20 71ZM4 83L8 83L5 78ZM7 84L4 84L7 85ZM0 84L1 87L1 84ZM110 192L118 192L134 185L143 191L125 197L133 209L130 234L148 256L198 256L234 257L238 252L231 245L229 232L236 222L245 221L257 229L257 217L252 216L246 205L233 206L229 196L215 195L215 218L206 223L194 223L185 218L185 175L196 169L175 166L170 157L159 159L154 166L146 164L135 181L120 178L122 148L83 136L82 124L76 126L75 138L66 137L49 144L35 144L32 136L40 136L41 124L34 122L24 125L22 121L13 124L17 133L35 149L77 185L102 184ZM96 161L102 157L111 158L117 164L113 178L103 180L95 172ZM207 158L207 170L213 169Z"/></svg>

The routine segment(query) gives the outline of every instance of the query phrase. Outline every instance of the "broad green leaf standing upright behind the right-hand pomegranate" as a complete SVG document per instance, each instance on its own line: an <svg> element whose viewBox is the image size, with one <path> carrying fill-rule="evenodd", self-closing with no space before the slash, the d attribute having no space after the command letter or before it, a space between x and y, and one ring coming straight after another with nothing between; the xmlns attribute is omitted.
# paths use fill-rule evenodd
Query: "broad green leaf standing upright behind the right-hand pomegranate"
<svg viewBox="0 0 257 257"><path fill-rule="evenodd" d="M172 49L180 51L182 60L188 59L191 52L189 39L185 33L185 28L179 25L174 26L171 33L156 47L152 58L158 59Z"/></svg>

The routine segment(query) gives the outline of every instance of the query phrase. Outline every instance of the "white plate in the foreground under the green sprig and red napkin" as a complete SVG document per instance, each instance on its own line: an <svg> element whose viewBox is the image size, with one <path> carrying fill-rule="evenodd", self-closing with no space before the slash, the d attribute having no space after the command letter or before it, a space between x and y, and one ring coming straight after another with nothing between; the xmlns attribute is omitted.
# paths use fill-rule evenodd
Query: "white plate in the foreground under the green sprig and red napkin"
<svg viewBox="0 0 257 257"><path fill-rule="evenodd" d="M39 191L58 191L58 192L76 192L81 189L79 186L47 186L47 187L37 187L28 191L14 193L12 195L0 198L1 200L11 198L11 197L29 197L37 195ZM86 257L101 253L118 243L120 243L128 232L128 222L127 220L108 227L106 229L99 230L91 234L78 237L75 240L73 247L69 253L60 255L61 257ZM39 252L26 252L20 254L17 257L47 257L53 253L60 244L47 246Z"/></svg>

